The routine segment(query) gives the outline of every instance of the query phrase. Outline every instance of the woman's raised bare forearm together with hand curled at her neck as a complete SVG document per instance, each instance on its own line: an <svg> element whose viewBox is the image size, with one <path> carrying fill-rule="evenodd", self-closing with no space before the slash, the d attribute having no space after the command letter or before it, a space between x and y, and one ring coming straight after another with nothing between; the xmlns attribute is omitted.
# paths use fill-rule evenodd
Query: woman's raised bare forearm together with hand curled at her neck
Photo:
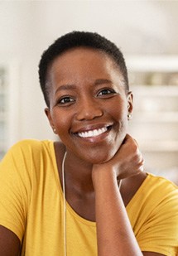
<svg viewBox="0 0 178 256"><path fill-rule="evenodd" d="M111 160L93 167L99 256L159 255L142 254L118 189L117 178L137 175L142 171L142 163L137 143L127 136Z"/></svg>

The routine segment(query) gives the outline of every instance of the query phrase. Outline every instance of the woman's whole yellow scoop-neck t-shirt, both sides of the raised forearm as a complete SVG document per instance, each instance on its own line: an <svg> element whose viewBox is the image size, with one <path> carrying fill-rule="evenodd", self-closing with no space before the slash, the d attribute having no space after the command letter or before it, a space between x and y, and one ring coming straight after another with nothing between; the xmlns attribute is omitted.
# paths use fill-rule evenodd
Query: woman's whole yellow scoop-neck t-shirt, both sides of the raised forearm
<svg viewBox="0 0 178 256"><path fill-rule="evenodd" d="M142 251L178 255L178 188L147 175L127 205ZM24 140L0 163L0 225L22 242L26 256L64 256L64 204L54 142ZM96 224L66 205L69 256L97 255Z"/></svg>

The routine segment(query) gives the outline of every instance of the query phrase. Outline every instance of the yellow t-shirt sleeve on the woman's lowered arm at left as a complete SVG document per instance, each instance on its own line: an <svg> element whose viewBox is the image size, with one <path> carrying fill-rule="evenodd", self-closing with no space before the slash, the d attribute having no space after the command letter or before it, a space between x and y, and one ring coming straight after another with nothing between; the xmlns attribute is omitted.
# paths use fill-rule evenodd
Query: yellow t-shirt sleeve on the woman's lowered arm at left
<svg viewBox="0 0 178 256"><path fill-rule="evenodd" d="M0 162L0 225L12 230L22 242L31 190L28 176L29 162L26 162L22 145L18 142Z"/></svg>

